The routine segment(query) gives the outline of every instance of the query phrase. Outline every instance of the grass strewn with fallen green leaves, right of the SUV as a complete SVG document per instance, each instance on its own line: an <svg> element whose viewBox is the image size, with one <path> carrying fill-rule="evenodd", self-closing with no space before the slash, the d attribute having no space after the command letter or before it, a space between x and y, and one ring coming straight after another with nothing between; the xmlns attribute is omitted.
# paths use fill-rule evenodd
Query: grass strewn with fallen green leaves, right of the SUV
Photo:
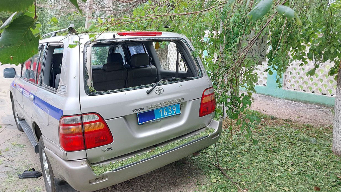
<svg viewBox="0 0 341 192"><path fill-rule="evenodd" d="M217 142L217 152L225 173L248 191L341 191L341 157L331 151L332 128L299 125L287 120L263 119L254 130L257 145L245 139L239 129L223 130ZM224 126L230 120L225 120ZM316 139L316 140L315 140ZM191 161L207 175L199 191L238 191L216 164L213 146Z"/></svg>

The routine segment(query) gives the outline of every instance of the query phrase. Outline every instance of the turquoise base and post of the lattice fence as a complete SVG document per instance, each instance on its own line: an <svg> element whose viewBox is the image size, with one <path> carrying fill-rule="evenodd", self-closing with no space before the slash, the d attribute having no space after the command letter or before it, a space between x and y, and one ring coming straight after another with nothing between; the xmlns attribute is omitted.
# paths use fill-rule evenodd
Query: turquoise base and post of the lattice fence
<svg viewBox="0 0 341 192"><path fill-rule="evenodd" d="M301 91L291 91L285 88L284 89L279 88L276 83L276 77L277 77L276 71L273 71L272 75L268 73L266 86L256 85L255 86L256 92L263 95L270 95L273 97L295 101L305 101L323 105L335 104L335 97ZM283 79L280 79L280 82L283 82Z"/></svg>

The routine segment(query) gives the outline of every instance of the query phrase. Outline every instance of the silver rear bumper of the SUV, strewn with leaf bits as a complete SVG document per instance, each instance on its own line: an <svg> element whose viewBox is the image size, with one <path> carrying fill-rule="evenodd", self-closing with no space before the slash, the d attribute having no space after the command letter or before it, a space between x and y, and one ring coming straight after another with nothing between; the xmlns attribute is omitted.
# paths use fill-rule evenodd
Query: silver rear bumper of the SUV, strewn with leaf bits
<svg viewBox="0 0 341 192"><path fill-rule="evenodd" d="M45 152L56 178L67 181L77 191L95 191L146 174L211 146L220 137L222 121L211 120L207 127L214 129L214 132L207 137L189 142L148 160L115 169L114 171L108 171L100 176L93 173L87 160L66 161L47 148L45 148ZM105 163L110 163L110 161Z"/></svg>

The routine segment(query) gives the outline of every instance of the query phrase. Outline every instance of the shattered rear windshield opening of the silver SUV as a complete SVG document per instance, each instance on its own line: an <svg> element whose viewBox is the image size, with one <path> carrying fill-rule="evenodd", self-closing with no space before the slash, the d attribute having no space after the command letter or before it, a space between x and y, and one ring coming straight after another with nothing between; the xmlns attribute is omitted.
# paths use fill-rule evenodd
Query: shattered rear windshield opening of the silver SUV
<svg viewBox="0 0 341 192"><path fill-rule="evenodd" d="M202 76L180 40L97 42L87 48L85 71L90 94L187 81ZM90 62L89 62L90 61ZM167 80L166 80L167 79ZM169 80L168 80L169 79Z"/></svg>

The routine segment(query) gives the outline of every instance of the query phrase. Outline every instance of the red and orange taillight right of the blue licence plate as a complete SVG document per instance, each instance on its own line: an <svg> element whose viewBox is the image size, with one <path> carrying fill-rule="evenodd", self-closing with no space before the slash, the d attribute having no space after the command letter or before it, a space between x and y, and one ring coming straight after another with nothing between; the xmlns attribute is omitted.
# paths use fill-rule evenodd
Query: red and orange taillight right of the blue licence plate
<svg viewBox="0 0 341 192"><path fill-rule="evenodd" d="M213 113L216 110L216 97L214 95L214 88L210 87L204 90L201 97L199 116L205 116Z"/></svg>

